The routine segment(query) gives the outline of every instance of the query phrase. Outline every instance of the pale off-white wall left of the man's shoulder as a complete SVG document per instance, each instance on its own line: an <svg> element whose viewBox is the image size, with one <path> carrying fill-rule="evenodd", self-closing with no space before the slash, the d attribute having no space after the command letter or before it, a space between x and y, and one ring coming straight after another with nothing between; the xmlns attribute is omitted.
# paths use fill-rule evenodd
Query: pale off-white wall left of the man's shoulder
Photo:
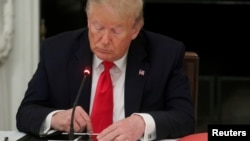
<svg viewBox="0 0 250 141"><path fill-rule="evenodd" d="M8 40L11 52L0 63L0 130L16 130L16 111L38 62L39 0L1 2L0 10L11 2L13 25L8 25L13 26L13 32ZM4 19L0 19L1 26L6 22Z"/></svg>

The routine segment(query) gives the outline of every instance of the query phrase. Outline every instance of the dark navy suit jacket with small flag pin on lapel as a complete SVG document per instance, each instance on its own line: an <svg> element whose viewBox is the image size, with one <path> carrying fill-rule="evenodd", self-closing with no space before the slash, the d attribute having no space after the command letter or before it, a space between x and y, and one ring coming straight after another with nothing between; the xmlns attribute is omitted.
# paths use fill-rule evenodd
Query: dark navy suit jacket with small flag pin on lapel
<svg viewBox="0 0 250 141"><path fill-rule="evenodd" d="M125 115L149 113L157 138L193 133L194 107L183 70L185 47L176 40L142 30L132 41L125 75ZM88 29L66 32L41 44L38 68L17 112L17 128L38 135L48 113L71 108L83 69L92 68ZM139 74L139 71L144 74ZM91 76L79 105L89 112Z"/></svg>

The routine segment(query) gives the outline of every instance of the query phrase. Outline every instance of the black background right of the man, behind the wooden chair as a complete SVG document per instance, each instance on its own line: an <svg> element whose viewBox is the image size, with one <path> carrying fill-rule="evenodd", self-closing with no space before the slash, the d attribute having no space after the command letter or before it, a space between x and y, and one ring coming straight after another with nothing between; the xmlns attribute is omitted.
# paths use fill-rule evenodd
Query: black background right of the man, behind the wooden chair
<svg viewBox="0 0 250 141"><path fill-rule="evenodd" d="M181 40L199 54L198 131L213 123L250 123L248 13L247 1L145 5L146 29Z"/></svg>

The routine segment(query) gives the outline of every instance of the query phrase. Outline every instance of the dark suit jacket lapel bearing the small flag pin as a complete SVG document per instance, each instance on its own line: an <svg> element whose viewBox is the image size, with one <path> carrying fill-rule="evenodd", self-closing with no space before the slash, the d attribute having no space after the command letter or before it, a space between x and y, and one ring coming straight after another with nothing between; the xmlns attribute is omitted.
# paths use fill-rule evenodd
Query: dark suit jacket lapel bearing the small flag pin
<svg viewBox="0 0 250 141"><path fill-rule="evenodd" d="M145 44L140 38L130 46L125 75L125 116L140 110L144 83L148 72Z"/></svg>

